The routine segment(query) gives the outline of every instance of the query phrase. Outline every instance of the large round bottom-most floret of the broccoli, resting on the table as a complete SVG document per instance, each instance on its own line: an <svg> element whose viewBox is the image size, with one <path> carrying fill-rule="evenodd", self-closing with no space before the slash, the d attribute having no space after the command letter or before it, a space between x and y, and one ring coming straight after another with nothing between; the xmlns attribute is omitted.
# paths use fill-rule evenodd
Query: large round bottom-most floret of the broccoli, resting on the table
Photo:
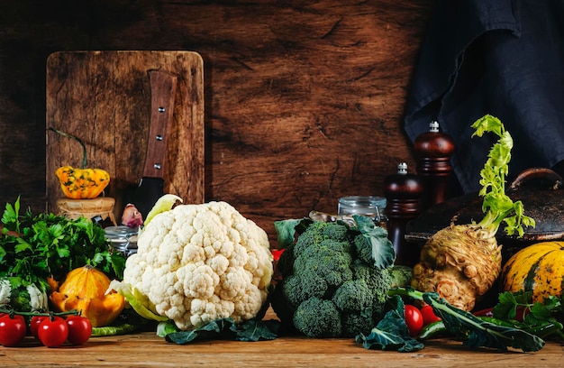
<svg viewBox="0 0 564 368"><path fill-rule="evenodd" d="M331 300L312 298L296 308L294 326L308 337L341 336L341 314Z"/></svg>

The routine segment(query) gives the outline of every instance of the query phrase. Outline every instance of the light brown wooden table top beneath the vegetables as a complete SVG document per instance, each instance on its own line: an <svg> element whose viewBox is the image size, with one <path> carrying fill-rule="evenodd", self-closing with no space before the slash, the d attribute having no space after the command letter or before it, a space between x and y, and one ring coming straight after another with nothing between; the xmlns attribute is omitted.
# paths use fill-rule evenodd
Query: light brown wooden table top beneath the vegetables
<svg viewBox="0 0 564 368"><path fill-rule="evenodd" d="M0 366L126 367L561 367L564 345L548 342L541 351L468 349L459 341L437 339L414 353L368 350L352 339L279 337L272 341L167 343L154 333L93 337L85 345L48 348L28 336L18 347L0 346Z"/></svg>

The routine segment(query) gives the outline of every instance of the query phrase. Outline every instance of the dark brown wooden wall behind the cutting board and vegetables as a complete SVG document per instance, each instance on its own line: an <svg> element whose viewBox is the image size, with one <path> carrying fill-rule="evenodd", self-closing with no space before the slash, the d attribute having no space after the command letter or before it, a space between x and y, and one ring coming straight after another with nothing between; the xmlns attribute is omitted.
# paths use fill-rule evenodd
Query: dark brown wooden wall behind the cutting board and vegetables
<svg viewBox="0 0 564 368"><path fill-rule="evenodd" d="M187 50L205 64L205 198L267 230L381 195L433 0L0 2L0 202L45 209L50 53ZM138 150L140 147L123 147ZM142 151L142 150L141 150Z"/></svg>

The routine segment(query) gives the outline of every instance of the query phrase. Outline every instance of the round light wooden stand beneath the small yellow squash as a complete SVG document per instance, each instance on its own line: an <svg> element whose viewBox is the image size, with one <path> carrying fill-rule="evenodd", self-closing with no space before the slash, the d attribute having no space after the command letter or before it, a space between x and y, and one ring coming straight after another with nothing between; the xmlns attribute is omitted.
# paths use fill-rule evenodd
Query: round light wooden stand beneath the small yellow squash
<svg viewBox="0 0 564 368"><path fill-rule="evenodd" d="M109 197L98 197L94 199L57 199L57 207L59 215L66 216L70 219L77 219L80 216L93 218L101 216L102 220L110 218L110 221L117 226L114 216L115 199Z"/></svg>

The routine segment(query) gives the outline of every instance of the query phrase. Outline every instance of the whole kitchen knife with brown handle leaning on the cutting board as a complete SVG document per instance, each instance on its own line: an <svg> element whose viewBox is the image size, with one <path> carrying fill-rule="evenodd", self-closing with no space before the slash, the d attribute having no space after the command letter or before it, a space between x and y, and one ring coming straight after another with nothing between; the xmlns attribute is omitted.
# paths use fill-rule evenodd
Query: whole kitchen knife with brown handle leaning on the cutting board
<svg viewBox="0 0 564 368"><path fill-rule="evenodd" d="M150 128L145 164L139 186L128 192L125 203L131 203L147 217L155 202L164 194L164 169L167 159L167 131L174 113L177 77L166 71L151 69Z"/></svg>

